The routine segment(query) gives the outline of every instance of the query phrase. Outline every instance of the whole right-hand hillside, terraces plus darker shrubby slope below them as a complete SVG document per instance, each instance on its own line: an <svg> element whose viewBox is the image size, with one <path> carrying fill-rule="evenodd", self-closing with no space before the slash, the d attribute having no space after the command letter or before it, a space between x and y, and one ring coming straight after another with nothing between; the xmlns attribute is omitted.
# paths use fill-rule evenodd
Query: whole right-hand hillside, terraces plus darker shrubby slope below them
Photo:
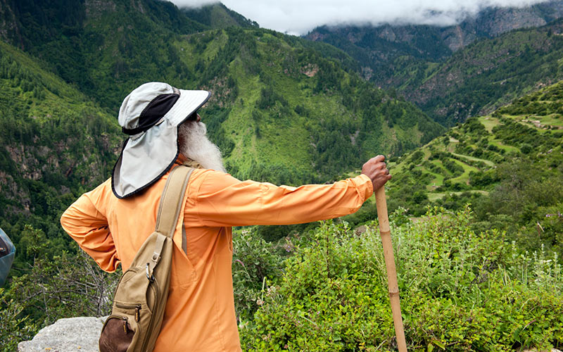
<svg viewBox="0 0 563 352"><path fill-rule="evenodd" d="M470 118L390 163L390 209L470 203L476 230L505 230L529 251L563 253L563 82ZM365 206L351 222L369 220Z"/></svg>

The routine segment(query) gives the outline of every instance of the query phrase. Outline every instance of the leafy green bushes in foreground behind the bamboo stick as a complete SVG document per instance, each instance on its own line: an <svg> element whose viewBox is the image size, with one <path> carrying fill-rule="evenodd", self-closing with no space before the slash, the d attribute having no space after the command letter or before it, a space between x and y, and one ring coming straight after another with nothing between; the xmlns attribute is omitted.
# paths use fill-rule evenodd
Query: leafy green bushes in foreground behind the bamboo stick
<svg viewBox="0 0 563 352"><path fill-rule="evenodd" d="M560 348L557 256L520 253L498 231L476 234L470 220L465 208L391 221L409 350ZM255 320L240 330L245 351L396 348L375 224L358 235L346 222L324 222L263 294Z"/></svg>

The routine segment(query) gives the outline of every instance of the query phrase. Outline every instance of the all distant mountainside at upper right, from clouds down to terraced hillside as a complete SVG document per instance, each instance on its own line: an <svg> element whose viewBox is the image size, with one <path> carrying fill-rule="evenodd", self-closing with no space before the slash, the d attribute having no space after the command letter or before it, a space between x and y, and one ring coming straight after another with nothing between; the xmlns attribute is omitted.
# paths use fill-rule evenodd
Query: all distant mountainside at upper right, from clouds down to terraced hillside
<svg viewBox="0 0 563 352"><path fill-rule="evenodd" d="M532 10L538 18L536 25L541 25L561 15L562 3L538 4ZM394 87L431 118L452 126L469 116L490 113L517 96L561 78L561 20L543 27L505 32L531 23L516 15L498 20L498 11L496 15L495 11L481 14L476 20L481 29L473 30L479 33L474 39L481 39L460 45L461 49L455 52L443 38L446 28L439 27L324 28L313 34L323 38L326 32L327 42L359 58L362 66L377 63L372 81L381 87ZM517 13L523 15L526 11ZM494 30L495 25L500 27ZM457 34L464 33L461 27ZM335 35L340 39L334 39ZM363 51L350 46L350 40L358 45L373 44L377 51L360 58Z"/></svg>

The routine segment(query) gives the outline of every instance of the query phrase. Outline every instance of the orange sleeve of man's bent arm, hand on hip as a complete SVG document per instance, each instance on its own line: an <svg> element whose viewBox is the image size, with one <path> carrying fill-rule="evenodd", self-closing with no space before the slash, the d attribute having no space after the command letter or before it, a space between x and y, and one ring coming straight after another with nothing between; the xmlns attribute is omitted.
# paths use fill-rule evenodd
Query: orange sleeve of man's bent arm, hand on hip
<svg viewBox="0 0 563 352"><path fill-rule="evenodd" d="M114 272L120 260L109 231L108 220L95 206L102 186L103 184L82 194L72 203L61 216L61 225L80 248L96 260L102 270Z"/></svg>

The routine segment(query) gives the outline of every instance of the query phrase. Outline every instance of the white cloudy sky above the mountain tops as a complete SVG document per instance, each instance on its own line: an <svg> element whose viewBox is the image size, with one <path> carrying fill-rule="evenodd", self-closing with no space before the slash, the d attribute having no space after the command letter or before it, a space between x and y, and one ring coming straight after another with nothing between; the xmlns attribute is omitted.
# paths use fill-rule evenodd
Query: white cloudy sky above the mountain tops
<svg viewBox="0 0 563 352"><path fill-rule="evenodd" d="M170 0L200 7L217 0ZM381 23L453 25L488 6L530 6L545 0L223 0L228 8L260 27L307 34L320 25Z"/></svg>

